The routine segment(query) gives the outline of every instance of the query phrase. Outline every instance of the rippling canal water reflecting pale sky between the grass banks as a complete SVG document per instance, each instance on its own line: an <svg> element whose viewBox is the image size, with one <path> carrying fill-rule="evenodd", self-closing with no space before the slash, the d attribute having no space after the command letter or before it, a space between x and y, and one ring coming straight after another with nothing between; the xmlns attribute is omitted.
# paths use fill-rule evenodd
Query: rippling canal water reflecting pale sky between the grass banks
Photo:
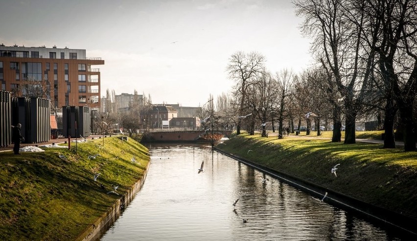
<svg viewBox="0 0 417 241"><path fill-rule="evenodd" d="M142 190L101 241L401 240L210 146L149 149Z"/></svg>

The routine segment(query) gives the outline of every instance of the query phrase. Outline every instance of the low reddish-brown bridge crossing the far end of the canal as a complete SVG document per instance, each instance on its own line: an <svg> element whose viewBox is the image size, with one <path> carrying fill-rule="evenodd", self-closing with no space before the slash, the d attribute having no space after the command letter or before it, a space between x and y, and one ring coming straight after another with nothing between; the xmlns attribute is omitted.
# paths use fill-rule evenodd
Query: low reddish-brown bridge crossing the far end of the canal
<svg viewBox="0 0 417 241"><path fill-rule="evenodd" d="M142 137L144 142L194 142L217 141L223 136L229 137L232 130L150 130Z"/></svg>

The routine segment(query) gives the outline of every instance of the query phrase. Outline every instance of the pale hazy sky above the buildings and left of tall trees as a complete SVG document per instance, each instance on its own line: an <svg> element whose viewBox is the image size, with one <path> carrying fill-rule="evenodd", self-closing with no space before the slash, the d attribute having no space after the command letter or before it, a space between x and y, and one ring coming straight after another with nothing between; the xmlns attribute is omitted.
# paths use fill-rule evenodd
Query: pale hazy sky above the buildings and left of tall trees
<svg viewBox="0 0 417 241"><path fill-rule="evenodd" d="M232 91L236 51L265 56L272 73L311 63L291 0L0 0L0 43L86 49L100 57L101 96L150 95L201 106Z"/></svg>

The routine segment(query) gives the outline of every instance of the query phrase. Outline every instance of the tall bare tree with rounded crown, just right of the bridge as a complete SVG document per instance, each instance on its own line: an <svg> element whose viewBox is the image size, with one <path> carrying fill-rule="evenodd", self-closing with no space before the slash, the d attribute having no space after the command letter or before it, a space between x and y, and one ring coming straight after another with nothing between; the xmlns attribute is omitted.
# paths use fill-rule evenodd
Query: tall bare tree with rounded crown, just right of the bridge
<svg viewBox="0 0 417 241"><path fill-rule="evenodd" d="M234 94L240 103L238 115L244 114L247 89L255 83L255 75L262 70L264 62L265 57L256 52L245 54L242 51L237 51L229 59L227 71L229 78L234 80L236 84ZM238 119L237 134L240 134L240 125L241 119Z"/></svg>

